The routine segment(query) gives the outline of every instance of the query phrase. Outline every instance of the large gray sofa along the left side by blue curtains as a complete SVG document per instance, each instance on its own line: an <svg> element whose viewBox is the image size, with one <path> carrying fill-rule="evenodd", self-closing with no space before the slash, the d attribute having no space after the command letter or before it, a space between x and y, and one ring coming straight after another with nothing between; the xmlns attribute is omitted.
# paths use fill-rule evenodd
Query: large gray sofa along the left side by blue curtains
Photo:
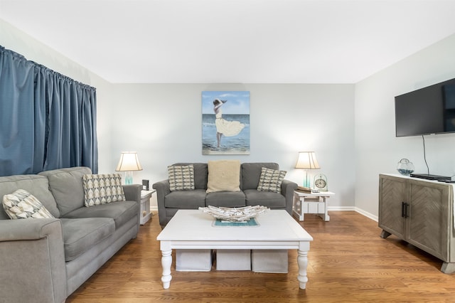
<svg viewBox="0 0 455 303"><path fill-rule="evenodd" d="M127 201L84 206L87 167L0 177L0 198L28 191L55 218L11 220L0 206L0 302L65 302L139 231L141 186Z"/></svg>

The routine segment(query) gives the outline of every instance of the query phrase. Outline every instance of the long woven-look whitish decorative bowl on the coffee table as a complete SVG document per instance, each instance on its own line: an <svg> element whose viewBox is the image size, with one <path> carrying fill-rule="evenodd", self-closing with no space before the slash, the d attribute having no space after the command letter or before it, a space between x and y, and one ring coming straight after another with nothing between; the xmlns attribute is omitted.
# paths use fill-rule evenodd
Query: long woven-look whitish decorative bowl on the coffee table
<svg viewBox="0 0 455 303"><path fill-rule="evenodd" d="M240 222L247 221L251 218L255 218L260 213L265 213L269 208L265 206L245 206L245 207L200 207L200 211L208 213L210 216L213 216L217 219L230 221L230 222Z"/></svg>

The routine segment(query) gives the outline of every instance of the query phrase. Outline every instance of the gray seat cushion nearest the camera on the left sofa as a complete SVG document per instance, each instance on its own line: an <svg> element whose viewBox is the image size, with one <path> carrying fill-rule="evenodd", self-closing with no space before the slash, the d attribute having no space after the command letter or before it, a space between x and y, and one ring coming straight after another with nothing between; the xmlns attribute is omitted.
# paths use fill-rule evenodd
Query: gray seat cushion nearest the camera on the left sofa
<svg viewBox="0 0 455 303"><path fill-rule="evenodd" d="M112 235L112 218L61 218L65 261L74 260L94 245Z"/></svg>

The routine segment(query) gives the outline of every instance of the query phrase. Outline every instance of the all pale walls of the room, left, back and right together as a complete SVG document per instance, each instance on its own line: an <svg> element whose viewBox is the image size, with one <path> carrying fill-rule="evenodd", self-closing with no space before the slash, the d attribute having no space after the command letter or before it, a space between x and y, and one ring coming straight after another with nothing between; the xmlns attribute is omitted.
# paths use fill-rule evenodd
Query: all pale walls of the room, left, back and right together
<svg viewBox="0 0 455 303"><path fill-rule="evenodd" d="M201 152L203 90L249 90L251 154L241 161L276 161L287 178L297 152L314 150L329 189L330 205L354 206L378 216L378 174L395 173L408 158L426 172L422 137L395 137L394 97L455 78L455 35L356 85L168 84L113 85L0 20L0 44L29 60L97 87L100 172L112 172L120 151L136 150L144 171L134 181L166 178L176 161L223 156ZM372 58L374 60L374 58ZM151 71L153 72L153 71ZM355 101L354 101L355 100ZM455 174L455 134L425 136L431 174Z"/></svg>

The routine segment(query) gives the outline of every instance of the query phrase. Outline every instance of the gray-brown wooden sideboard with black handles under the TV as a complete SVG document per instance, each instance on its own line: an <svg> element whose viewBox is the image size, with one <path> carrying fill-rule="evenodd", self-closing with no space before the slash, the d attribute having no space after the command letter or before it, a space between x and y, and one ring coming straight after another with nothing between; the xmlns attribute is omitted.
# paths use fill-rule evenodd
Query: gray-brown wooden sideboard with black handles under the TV
<svg viewBox="0 0 455 303"><path fill-rule="evenodd" d="M455 272L452 184L380 174L378 215L382 238L396 235L443 260L441 272Z"/></svg>

